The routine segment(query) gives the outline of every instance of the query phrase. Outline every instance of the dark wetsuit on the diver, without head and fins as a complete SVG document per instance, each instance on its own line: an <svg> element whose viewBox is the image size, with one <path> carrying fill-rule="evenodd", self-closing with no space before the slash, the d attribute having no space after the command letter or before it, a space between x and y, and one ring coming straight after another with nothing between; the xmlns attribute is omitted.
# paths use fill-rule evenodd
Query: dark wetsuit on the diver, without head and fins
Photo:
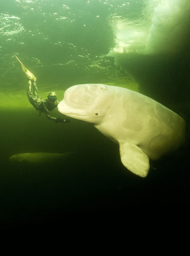
<svg viewBox="0 0 190 256"><path fill-rule="evenodd" d="M32 93L32 89L33 89L33 93ZM48 119L55 121L55 123L58 123L58 122L70 123L69 119L61 119L61 118L50 116L49 111L55 109L59 102L56 100L50 103L48 99L42 99L41 97L39 97L38 88L34 80L28 79L27 96L30 103L34 106L34 108L39 112L45 113Z"/></svg>

